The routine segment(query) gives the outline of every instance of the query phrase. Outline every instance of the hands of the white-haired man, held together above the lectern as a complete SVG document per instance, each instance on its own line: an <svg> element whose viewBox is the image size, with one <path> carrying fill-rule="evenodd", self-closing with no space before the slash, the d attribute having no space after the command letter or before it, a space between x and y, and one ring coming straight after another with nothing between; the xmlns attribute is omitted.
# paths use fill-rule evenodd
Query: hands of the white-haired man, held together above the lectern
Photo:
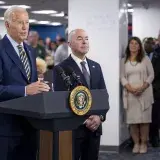
<svg viewBox="0 0 160 160"><path fill-rule="evenodd" d="M41 92L48 92L50 87L40 81L34 82L26 86L26 95L34 95Z"/></svg>

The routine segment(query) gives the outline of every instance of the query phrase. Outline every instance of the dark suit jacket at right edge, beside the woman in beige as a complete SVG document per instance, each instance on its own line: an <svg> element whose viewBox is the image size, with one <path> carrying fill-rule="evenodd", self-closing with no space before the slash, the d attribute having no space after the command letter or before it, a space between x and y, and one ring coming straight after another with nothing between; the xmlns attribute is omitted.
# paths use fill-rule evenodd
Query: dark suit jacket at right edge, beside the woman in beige
<svg viewBox="0 0 160 160"><path fill-rule="evenodd" d="M154 69L153 93L154 99L160 100L160 52L155 50L152 57L152 65Z"/></svg>

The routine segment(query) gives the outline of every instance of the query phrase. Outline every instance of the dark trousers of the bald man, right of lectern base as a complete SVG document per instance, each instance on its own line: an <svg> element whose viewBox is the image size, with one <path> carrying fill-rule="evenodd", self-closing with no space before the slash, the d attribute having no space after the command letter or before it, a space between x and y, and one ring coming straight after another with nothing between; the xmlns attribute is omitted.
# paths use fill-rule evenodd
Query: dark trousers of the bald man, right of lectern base
<svg viewBox="0 0 160 160"><path fill-rule="evenodd" d="M75 138L75 160L98 160L100 135L88 132L84 137Z"/></svg>

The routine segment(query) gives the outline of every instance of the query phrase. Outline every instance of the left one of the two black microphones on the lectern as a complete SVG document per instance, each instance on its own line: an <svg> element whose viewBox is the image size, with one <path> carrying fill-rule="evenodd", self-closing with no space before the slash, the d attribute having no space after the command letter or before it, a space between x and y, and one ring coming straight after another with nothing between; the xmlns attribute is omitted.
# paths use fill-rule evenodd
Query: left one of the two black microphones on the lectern
<svg viewBox="0 0 160 160"><path fill-rule="evenodd" d="M70 87L72 86L70 77L65 74L64 70L60 66L57 67L57 71L58 71L59 75L61 76L61 78L63 79L65 86L69 90Z"/></svg>

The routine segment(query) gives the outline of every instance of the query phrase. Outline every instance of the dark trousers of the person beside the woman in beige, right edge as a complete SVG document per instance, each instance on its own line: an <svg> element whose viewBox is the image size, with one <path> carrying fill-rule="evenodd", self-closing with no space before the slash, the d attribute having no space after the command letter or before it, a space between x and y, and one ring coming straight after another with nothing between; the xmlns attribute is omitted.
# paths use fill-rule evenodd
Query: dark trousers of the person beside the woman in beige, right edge
<svg viewBox="0 0 160 160"><path fill-rule="evenodd" d="M160 100L155 100L152 108L152 123L150 124L150 141L159 139Z"/></svg>

